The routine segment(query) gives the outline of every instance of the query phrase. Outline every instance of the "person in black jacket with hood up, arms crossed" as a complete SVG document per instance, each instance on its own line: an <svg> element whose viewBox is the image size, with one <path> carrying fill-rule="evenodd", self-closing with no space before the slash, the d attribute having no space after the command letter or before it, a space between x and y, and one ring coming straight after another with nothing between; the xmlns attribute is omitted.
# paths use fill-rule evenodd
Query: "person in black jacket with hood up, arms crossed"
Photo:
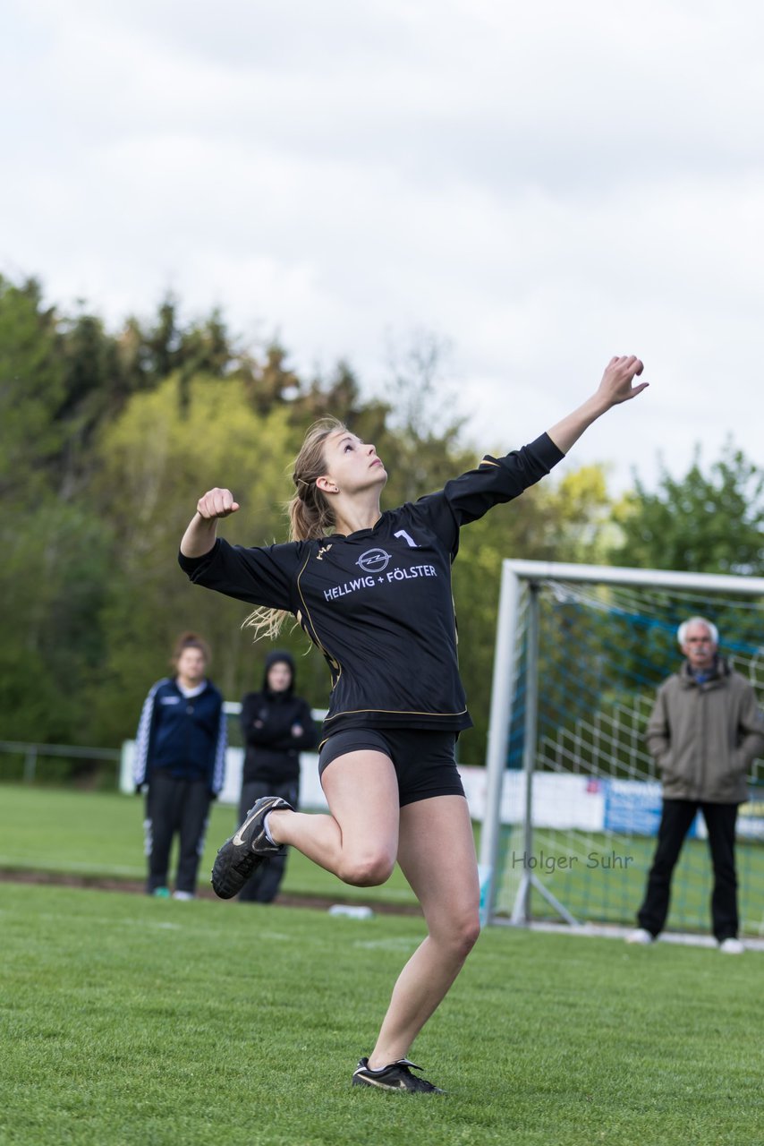
<svg viewBox="0 0 764 1146"><path fill-rule="evenodd" d="M300 794L300 752L317 739L310 707L294 696L294 661L288 652L271 652L260 692L242 699L242 732L246 752L242 775L241 823L255 800L279 795L297 807ZM244 903L270 903L286 869L286 851L269 856L238 898Z"/></svg>

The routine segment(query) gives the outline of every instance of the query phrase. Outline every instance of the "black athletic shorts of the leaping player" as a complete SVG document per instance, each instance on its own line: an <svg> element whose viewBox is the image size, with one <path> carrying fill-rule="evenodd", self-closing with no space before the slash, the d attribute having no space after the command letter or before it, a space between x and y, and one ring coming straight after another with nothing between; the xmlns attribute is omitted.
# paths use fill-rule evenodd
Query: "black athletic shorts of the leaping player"
<svg viewBox="0 0 764 1146"><path fill-rule="evenodd" d="M408 728L348 728L330 736L318 754L318 776L332 760L364 748L383 752L397 776L401 808L434 795L464 795L456 768L456 732Z"/></svg>

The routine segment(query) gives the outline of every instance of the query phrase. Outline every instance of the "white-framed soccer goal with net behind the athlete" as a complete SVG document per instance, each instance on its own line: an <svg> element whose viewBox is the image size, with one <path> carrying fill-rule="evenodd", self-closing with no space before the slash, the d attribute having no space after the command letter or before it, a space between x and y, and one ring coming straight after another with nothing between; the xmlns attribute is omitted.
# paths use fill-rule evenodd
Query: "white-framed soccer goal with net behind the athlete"
<svg viewBox="0 0 764 1146"><path fill-rule="evenodd" d="M505 560L494 661L483 921L635 925L660 821L644 731L679 666L678 625L714 621L764 702L764 578ZM738 827L741 933L764 935L764 762ZM710 927L698 817L668 928Z"/></svg>

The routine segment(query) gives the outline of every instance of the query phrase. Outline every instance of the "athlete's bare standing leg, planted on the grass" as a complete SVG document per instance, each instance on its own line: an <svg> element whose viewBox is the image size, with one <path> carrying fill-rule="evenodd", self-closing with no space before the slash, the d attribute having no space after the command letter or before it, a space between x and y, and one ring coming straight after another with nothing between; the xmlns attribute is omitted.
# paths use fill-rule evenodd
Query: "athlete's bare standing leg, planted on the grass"
<svg viewBox="0 0 764 1146"><path fill-rule="evenodd" d="M480 934L478 863L463 796L433 796L401 808L397 858L424 910L427 937L395 983L369 1057L373 1069L405 1058Z"/></svg>

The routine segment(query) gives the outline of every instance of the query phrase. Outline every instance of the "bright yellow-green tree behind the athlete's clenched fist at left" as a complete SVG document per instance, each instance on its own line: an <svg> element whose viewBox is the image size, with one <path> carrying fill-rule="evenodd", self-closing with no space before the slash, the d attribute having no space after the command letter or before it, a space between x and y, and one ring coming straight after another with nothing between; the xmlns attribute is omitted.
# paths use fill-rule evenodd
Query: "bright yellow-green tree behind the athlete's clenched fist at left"
<svg viewBox="0 0 764 1146"><path fill-rule="evenodd" d="M182 629L211 642L213 675L228 698L259 683L265 649L242 631L247 606L191 586L178 567L178 547L198 497L213 486L230 487L242 509L221 527L233 543L285 540L286 474L296 452L284 408L265 416L251 407L242 379L195 377L188 405L178 413L179 376L155 391L135 394L100 442L101 513L116 532L115 578L101 623L109 634L99 704L101 736L132 733L149 684L166 670L168 650ZM283 643L306 650L301 635L284 628ZM320 658L301 667L301 686L325 696ZM317 673L314 673L314 665Z"/></svg>

